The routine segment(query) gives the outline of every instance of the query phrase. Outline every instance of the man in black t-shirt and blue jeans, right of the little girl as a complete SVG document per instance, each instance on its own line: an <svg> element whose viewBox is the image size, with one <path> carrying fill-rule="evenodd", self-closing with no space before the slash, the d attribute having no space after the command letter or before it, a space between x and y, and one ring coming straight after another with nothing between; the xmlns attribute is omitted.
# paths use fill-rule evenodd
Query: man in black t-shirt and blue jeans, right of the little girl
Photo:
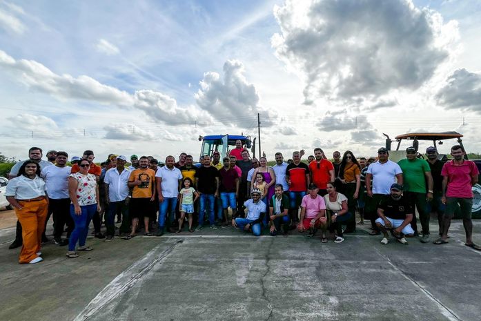
<svg viewBox="0 0 481 321"><path fill-rule="evenodd" d="M214 204L215 197L219 197L219 171L210 165L210 156L204 156L204 165L197 169L195 181L197 184L197 193L200 195L199 225L195 228L195 231L202 230L206 212L206 202L208 202L209 205L210 228L217 230L217 226L215 226Z"/></svg>

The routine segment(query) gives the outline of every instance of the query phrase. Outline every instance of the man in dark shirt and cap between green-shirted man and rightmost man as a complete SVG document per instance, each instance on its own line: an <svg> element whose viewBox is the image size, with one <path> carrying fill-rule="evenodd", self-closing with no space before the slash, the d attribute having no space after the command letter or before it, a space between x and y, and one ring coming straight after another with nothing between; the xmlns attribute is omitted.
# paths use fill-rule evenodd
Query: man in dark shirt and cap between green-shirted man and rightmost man
<svg viewBox="0 0 481 321"><path fill-rule="evenodd" d="M438 159L438 150L430 146L426 148L429 168L431 168L431 176L433 177L433 200L428 203L428 213L436 213L438 216L439 235L442 235L442 221L444 220L444 209L446 206L442 204L442 166L444 162Z"/></svg>

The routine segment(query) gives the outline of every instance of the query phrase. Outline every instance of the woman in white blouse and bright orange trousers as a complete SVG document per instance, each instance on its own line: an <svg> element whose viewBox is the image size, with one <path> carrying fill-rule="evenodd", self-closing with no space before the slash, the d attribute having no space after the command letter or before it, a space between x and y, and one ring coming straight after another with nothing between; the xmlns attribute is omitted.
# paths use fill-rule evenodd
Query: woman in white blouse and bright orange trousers
<svg viewBox="0 0 481 321"><path fill-rule="evenodd" d="M48 198L45 182L40 177L40 166L28 160L22 164L19 176L8 182L6 193L8 202L22 226L23 247L19 263L41 262L41 235L45 229L48 211Z"/></svg>

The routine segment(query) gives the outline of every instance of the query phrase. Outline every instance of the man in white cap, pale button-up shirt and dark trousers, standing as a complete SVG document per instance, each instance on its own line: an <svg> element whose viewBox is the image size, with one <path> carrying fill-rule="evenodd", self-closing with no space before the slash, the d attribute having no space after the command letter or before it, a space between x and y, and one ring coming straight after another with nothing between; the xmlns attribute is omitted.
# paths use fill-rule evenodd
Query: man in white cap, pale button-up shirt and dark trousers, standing
<svg viewBox="0 0 481 321"><path fill-rule="evenodd" d="M108 212L106 217L107 235L104 242L110 242L115 234L115 215L117 211L122 213L122 225L119 233L128 233L130 220L128 220L128 202L130 200L130 190L128 188L128 178L130 169L125 167L127 157L117 156L117 166L110 168L105 173L104 188Z"/></svg>

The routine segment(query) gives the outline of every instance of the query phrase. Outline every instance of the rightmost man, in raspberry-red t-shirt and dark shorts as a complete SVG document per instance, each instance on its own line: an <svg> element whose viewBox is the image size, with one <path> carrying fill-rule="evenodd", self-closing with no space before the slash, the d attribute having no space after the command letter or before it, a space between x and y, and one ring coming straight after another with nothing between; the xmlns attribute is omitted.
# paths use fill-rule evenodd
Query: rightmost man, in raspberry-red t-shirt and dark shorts
<svg viewBox="0 0 481 321"><path fill-rule="evenodd" d="M466 243L464 245L477 251L481 251L481 246L473 243L473 222L471 221L471 211L473 208L473 191L471 187L478 184L480 172L474 162L464 159L464 148L460 145L451 147L451 156L454 157L450 162L442 166L442 202L446 204L444 219L442 223L442 235L434 244L447 243L449 226L451 219L458 205L461 208L462 225L466 233Z"/></svg>

